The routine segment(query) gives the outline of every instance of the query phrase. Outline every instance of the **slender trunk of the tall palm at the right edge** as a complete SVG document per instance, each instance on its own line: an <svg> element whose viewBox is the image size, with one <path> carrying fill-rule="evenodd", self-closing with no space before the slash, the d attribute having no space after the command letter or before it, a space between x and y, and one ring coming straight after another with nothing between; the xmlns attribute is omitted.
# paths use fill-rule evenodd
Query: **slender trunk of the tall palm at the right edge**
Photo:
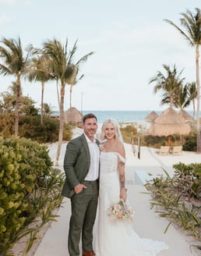
<svg viewBox="0 0 201 256"><path fill-rule="evenodd" d="M201 152L201 137L200 137L200 123L199 123L199 44L196 45L196 84L197 84L197 152Z"/></svg>

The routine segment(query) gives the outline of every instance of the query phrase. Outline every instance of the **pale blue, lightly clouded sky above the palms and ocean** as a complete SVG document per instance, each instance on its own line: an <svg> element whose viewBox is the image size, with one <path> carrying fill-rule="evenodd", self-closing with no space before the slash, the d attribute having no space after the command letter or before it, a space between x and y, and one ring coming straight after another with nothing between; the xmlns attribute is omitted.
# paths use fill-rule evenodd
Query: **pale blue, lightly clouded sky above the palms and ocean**
<svg viewBox="0 0 201 256"><path fill-rule="evenodd" d="M195 48L166 23L180 27L181 13L201 8L200 0L0 0L0 40L18 39L42 47L54 38L69 50L77 40L75 62L93 55L80 66L82 80L72 88L72 107L79 110L161 111L161 93L153 94L150 79L163 65L182 71L185 82L196 81ZM0 92L14 76L0 76ZM41 103L41 84L21 81L23 95ZM44 102L58 109L56 84L44 89ZM65 87L65 110L69 108ZM192 109L192 105L187 108Z"/></svg>

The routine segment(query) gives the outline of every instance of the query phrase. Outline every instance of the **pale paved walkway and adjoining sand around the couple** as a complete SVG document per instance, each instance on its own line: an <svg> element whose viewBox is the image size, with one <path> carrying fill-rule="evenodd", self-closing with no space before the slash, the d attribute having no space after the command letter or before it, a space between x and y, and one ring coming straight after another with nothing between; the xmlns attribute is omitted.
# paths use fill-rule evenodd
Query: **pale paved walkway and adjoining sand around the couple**
<svg viewBox="0 0 201 256"><path fill-rule="evenodd" d="M50 155L54 160L56 146L50 145ZM164 241L168 244L169 249L161 251L163 256L193 256L201 255L191 251L186 237L170 226L168 232L164 234L164 229L168 225L168 220L158 217L154 210L150 209L150 194L143 187L143 179L147 173L153 176L164 173L163 168L168 170L169 174L173 174L172 165L178 162L186 164L190 162L200 162L201 155L185 153L181 156L160 156L156 150L150 148L141 148L141 158L138 159L132 154L129 144L125 144L127 155L126 162L126 186L128 188L129 202L135 209L134 229L140 237L147 237L153 240ZM62 169L62 159L65 153L65 144L62 145L60 155ZM52 222L51 228L45 234L40 246L37 248L34 256L69 256L67 250L67 237L69 230L70 202L69 199L63 200L62 207L58 210L58 222ZM96 224L97 225L97 224ZM96 225L94 233L96 232ZM109 255L108 255L109 256ZM114 255L115 256L115 255ZM125 255L129 256L129 255Z"/></svg>

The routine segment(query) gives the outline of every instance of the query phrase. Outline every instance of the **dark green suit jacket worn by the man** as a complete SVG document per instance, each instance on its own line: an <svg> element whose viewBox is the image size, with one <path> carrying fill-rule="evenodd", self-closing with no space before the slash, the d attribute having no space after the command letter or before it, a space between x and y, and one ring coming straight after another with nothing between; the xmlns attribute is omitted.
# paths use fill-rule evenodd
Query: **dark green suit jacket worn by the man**
<svg viewBox="0 0 201 256"><path fill-rule="evenodd" d="M99 145L98 140L97 144ZM74 187L83 182L90 169L90 150L84 134L67 144L63 166L65 183L62 195L72 197L75 194Z"/></svg>

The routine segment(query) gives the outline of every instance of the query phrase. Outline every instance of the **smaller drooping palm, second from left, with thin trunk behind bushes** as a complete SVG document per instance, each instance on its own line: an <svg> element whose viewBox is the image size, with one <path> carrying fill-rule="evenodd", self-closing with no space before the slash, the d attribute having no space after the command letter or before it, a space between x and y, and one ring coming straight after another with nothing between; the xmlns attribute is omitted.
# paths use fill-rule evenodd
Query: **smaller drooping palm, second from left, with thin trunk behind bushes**
<svg viewBox="0 0 201 256"><path fill-rule="evenodd" d="M41 125L43 125L44 119L44 84L49 80L52 80L54 76L49 72L48 69L48 59L41 51L36 51L41 53L41 55L32 59L32 65L28 73L28 79L30 81L40 81L41 82Z"/></svg>

